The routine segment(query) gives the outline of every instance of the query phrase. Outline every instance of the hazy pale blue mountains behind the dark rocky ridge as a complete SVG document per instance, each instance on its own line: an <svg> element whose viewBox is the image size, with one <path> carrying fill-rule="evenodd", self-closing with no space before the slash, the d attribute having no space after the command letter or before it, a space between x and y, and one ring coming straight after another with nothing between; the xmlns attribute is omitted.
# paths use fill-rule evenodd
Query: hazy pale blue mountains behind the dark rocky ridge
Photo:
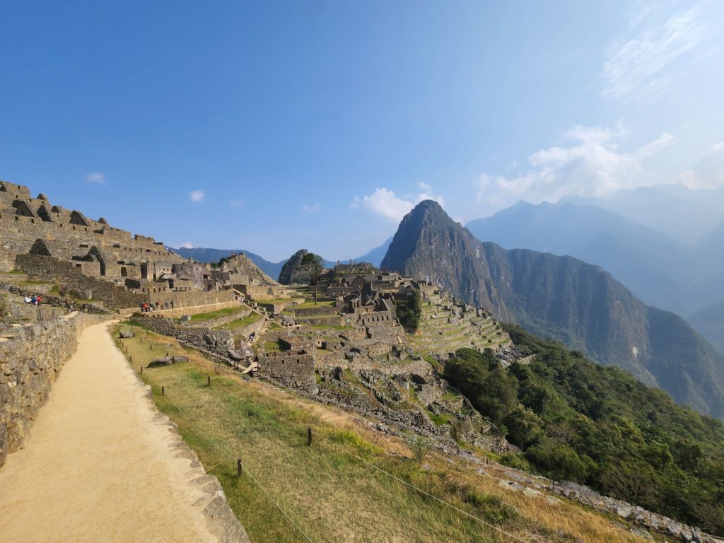
<svg viewBox="0 0 724 543"><path fill-rule="evenodd" d="M691 319L721 350L713 332L724 328L724 190L691 191L681 185L622 190L610 198L566 198L559 203L518 203L468 222L479 240L504 248L570 255L598 264L645 303Z"/></svg>

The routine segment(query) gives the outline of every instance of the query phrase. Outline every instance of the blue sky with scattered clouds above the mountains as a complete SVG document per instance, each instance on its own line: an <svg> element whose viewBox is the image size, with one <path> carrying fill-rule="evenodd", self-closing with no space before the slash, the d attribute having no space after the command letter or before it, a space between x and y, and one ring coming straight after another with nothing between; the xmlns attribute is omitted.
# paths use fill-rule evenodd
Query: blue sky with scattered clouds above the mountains
<svg viewBox="0 0 724 543"><path fill-rule="evenodd" d="M724 2L6 1L0 35L0 178L169 245L724 184Z"/></svg>

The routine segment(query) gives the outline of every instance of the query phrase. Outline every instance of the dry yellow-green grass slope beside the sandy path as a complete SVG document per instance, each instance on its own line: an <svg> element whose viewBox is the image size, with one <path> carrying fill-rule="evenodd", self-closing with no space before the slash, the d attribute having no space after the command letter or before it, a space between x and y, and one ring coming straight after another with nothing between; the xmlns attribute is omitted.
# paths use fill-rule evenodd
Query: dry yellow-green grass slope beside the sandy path
<svg viewBox="0 0 724 543"><path fill-rule="evenodd" d="M127 327L122 327L127 328ZM209 473L219 478L253 542L304 541L235 458L315 542L508 542L494 529L425 497L355 457L365 458L525 541L638 542L602 515L573 502L550 505L497 486L467 463L430 455L423 466L400 440L345 411L314 403L228 370L163 336L137 329L124 340L132 366L185 354L190 363L144 369L154 400L178 424ZM149 349L148 345L154 345ZM206 377L211 375L211 387ZM164 385L166 395L160 395ZM193 424L192 422L193 421ZM198 426L198 429L195 426ZM306 430L313 445L306 446ZM201 429L201 432L199 431ZM203 432L203 434L202 434ZM227 450L222 452L221 448Z"/></svg>

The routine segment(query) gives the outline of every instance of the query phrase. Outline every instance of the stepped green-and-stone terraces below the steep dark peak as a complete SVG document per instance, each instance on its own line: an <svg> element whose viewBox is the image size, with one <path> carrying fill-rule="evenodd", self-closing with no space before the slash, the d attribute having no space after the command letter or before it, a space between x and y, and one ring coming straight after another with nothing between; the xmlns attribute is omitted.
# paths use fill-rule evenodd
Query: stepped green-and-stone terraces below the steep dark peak
<svg viewBox="0 0 724 543"><path fill-rule="evenodd" d="M430 294L423 299L418 332L410 336L410 344L420 353L444 355L464 347L497 350L510 345L510 337L489 313L477 316L472 306L462 311L449 298Z"/></svg>

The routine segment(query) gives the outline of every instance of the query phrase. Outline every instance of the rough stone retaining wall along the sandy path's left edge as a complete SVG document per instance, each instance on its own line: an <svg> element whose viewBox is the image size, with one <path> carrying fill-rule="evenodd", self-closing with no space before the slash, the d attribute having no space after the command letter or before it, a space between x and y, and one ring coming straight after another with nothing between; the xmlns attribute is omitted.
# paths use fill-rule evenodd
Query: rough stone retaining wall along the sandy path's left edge
<svg viewBox="0 0 724 543"><path fill-rule="evenodd" d="M22 447L63 363L75 353L80 332L106 319L69 313L0 338L0 466Z"/></svg>

